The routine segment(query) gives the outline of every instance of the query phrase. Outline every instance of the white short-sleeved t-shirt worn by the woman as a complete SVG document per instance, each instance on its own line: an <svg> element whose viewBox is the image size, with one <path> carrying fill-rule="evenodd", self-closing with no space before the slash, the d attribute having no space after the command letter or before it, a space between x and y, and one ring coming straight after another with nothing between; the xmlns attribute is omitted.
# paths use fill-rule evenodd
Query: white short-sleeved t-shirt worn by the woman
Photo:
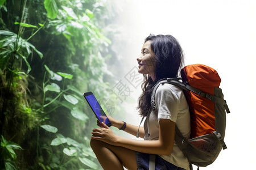
<svg viewBox="0 0 256 170"><path fill-rule="evenodd" d="M184 137L190 136L190 114L188 103L183 91L172 84L160 84L156 90L155 104L157 111L148 113L144 122L145 133L148 131L147 140L158 140L160 118L174 121ZM164 160L181 167L189 169L189 163L179 146L174 142L174 148L170 155L160 155Z"/></svg>

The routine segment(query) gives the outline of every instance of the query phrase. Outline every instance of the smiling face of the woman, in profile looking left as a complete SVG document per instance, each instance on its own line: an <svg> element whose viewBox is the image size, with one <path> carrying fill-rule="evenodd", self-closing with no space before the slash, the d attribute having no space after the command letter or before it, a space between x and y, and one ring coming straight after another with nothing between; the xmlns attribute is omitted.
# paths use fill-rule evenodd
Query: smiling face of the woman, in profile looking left
<svg viewBox="0 0 256 170"><path fill-rule="evenodd" d="M146 41L141 50L141 55L137 58L139 63L139 73L148 74L155 80L155 54L151 50L151 40Z"/></svg>

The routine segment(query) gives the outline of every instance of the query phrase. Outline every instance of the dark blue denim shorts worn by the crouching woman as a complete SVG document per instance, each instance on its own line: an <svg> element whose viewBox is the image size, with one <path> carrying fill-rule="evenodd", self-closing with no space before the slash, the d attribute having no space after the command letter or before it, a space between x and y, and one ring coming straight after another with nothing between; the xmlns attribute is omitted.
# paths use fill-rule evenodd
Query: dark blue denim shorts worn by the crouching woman
<svg viewBox="0 0 256 170"><path fill-rule="evenodd" d="M148 170L149 168L150 154L144 154L141 152L136 152L136 161L138 170ZM159 155L155 155L155 170L185 170L183 168L177 167L170 162L167 162Z"/></svg>

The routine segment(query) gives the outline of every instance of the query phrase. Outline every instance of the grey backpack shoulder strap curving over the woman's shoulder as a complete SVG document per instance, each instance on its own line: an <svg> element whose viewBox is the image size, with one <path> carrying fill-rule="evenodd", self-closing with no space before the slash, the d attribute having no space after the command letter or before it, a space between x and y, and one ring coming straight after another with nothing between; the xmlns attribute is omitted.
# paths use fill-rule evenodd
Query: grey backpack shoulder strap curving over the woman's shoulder
<svg viewBox="0 0 256 170"><path fill-rule="evenodd" d="M173 84L177 87L180 87L182 90L188 91L187 87L185 87L185 85L182 82L179 81L180 79L181 79L180 77L177 77L177 78L163 78L163 79L158 80L158 82L155 83L155 86L153 87L153 90L152 90L151 101L150 101L152 109L156 108L155 92L156 92L156 89L159 87L160 84L169 83L169 84Z"/></svg>

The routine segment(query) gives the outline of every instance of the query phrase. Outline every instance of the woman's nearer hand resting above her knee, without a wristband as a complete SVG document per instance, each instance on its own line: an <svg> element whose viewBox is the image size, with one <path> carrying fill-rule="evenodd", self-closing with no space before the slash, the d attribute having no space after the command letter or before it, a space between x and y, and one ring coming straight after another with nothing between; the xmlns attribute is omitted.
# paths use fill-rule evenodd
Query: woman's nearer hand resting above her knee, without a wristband
<svg viewBox="0 0 256 170"><path fill-rule="evenodd" d="M102 128L93 129L92 131L92 139L100 140L106 143L109 143L110 145L115 145L117 142L117 135L113 133L113 131L104 124L104 122L101 123Z"/></svg>

